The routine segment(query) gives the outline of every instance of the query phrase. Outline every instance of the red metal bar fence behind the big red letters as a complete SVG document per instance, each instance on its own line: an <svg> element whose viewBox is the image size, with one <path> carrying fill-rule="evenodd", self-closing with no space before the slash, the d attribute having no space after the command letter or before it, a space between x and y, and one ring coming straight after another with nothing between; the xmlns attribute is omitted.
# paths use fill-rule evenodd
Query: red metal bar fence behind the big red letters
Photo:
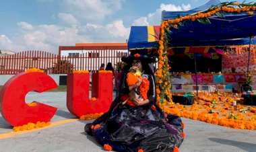
<svg viewBox="0 0 256 152"><path fill-rule="evenodd" d="M82 54L60 56L51 52L30 50L0 57L0 75L15 75L33 67L47 74L67 74L73 70L88 70L95 73L104 63L113 67L121 62L127 52L120 50L86 50Z"/></svg>

